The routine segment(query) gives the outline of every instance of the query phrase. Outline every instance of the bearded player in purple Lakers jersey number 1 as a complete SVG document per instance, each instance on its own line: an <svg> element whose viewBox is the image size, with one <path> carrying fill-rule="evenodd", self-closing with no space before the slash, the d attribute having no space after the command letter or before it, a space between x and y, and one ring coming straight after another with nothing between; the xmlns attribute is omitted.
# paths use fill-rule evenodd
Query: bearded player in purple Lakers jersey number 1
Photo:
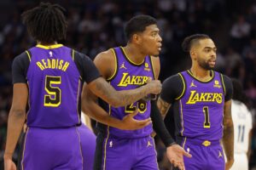
<svg viewBox="0 0 256 170"><path fill-rule="evenodd" d="M192 66L163 82L158 107L165 116L172 105L176 141L193 156L184 157L186 169L230 169L234 161L232 83L230 78L212 71L217 48L210 37L186 37L183 50L190 54Z"/></svg>

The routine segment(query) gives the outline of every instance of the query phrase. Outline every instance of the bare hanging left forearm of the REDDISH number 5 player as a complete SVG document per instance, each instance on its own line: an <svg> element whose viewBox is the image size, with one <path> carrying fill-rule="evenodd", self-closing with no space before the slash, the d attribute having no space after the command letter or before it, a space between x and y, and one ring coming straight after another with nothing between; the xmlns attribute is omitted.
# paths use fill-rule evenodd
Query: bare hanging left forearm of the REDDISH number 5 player
<svg viewBox="0 0 256 170"><path fill-rule="evenodd" d="M10 111L4 159L11 159L26 120L25 111Z"/></svg>

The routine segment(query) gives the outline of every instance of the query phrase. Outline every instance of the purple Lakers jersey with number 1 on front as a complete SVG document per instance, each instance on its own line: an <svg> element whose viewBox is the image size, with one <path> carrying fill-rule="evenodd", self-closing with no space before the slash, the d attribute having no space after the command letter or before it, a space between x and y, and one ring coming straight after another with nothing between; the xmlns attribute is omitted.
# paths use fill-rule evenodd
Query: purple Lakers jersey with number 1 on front
<svg viewBox="0 0 256 170"><path fill-rule="evenodd" d="M179 74L183 77L185 85L178 101L181 117L179 135L189 139L222 139L224 116L222 75L212 71L212 79L201 82L189 71Z"/></svg>

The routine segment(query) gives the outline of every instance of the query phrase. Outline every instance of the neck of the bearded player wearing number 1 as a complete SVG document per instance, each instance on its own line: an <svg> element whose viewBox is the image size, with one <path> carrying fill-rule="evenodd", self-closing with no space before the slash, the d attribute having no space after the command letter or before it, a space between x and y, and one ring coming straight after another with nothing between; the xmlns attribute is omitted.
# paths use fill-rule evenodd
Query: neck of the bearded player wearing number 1
<svg viewBox="0 0 256 170"><path fill-rule="evenodd" d="M201 81L207 81L211 78L211 71L205 70L201 68L200 66L192 65L190 68L191 73L195 78Z"/></svg>

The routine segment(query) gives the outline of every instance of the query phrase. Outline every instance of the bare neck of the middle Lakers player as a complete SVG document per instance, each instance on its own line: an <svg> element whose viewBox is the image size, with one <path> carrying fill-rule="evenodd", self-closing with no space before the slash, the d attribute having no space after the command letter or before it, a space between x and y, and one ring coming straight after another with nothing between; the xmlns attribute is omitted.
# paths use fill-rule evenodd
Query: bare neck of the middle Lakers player
<svg viewBox="0 0 256 170"><path fill-rule="evenodd" d="M140 64L143 63L146 55L142 54L136 47L129 44L124 47L126 57L131 59L132 62Z"/></svg>

